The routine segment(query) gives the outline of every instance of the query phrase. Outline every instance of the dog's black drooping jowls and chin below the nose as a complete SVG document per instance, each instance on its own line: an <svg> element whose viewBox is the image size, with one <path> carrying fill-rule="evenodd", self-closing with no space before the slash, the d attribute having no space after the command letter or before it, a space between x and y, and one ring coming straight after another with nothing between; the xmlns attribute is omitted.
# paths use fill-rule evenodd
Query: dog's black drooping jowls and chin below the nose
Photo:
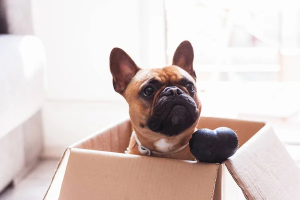
<svg viewBox="0 0 300 200"><path fill-rule="evenodd" d="M167 136L178 135L190 127L198 118L197 110L190 111L184 105L175 105L170 108L164 120L152 117L149 122L149 128L154 132L159 132Z"/></svg>

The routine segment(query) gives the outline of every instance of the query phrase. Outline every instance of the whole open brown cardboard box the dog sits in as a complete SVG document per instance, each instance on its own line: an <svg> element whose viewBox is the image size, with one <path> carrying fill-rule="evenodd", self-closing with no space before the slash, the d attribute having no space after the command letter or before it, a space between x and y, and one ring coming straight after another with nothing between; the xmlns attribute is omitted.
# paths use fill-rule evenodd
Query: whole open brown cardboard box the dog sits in
<svg viewBox="0 0 300 200"><path fill-rule="evenodd" d="M236 131L239 149L223 164L123 153L129 120L66 148L44 199L234 199L227 168L246 199L300 199L300 169L262 122L201 117L198 128Z"/></svg>

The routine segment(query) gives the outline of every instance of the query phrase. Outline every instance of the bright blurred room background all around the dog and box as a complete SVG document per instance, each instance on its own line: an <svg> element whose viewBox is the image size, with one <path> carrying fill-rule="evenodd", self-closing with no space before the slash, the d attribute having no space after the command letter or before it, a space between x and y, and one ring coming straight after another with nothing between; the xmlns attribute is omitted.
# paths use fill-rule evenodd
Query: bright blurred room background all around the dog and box
<svg viewBox="0 0 300 200"><path fill-rule="evenodd" d="M0 0L0 199L41 199L66 146L128 117L113 47L162 67L186 39L201 115L266 121L300 163L300 1Z"/></svg>

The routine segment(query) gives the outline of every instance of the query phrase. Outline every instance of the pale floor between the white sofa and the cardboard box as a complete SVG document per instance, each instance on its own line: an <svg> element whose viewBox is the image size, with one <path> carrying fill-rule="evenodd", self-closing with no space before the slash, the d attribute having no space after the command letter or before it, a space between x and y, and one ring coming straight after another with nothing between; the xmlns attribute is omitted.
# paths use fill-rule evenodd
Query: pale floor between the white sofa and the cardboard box
<svg viewBox="0 0 300 200"><path fill-rule="evenodd" d="M0 200L41 200L48 189L58 159L40 160L15 186L0 193Z"/></svg>

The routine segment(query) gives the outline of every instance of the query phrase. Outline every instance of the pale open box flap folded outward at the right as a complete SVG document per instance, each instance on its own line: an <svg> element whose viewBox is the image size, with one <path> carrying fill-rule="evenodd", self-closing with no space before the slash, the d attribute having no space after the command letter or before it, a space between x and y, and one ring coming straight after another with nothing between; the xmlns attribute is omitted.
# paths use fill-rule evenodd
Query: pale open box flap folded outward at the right
<svg viewBox="0 0 300 200"><path fill-rule="evenodd" d="M225 161L246 199L299 199L300 169L266 125Z"/></svg>

